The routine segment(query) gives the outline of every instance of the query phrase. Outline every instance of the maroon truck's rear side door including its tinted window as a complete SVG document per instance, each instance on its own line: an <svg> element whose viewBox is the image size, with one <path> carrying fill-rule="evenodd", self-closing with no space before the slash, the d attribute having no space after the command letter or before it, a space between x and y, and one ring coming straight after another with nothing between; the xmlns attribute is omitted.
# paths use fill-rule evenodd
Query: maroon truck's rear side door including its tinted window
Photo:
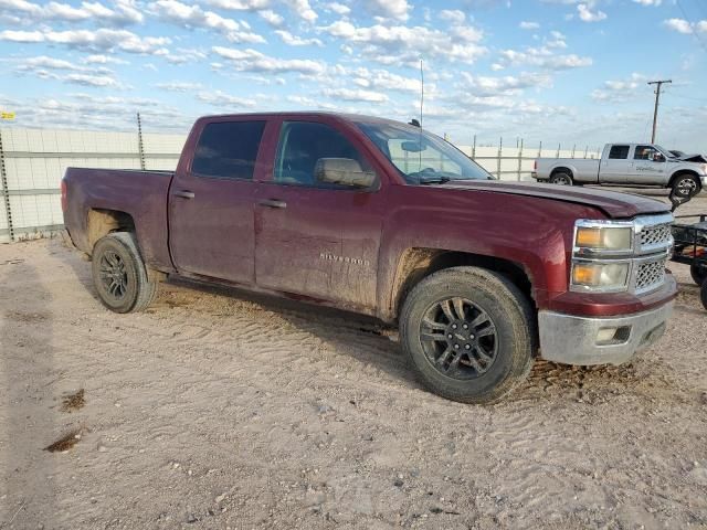
<svg viewBox="0 0 707 530"><path fill-rule="evenodd" d="M254 283L253 200L265 119L203 125L193 160L178 169L169 194L169 242L186 275Z"/></svg>

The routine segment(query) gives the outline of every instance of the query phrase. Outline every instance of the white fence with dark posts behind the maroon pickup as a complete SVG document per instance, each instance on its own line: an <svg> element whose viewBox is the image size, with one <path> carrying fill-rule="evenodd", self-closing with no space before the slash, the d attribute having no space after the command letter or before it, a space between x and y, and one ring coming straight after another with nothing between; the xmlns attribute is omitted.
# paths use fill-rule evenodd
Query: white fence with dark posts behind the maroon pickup
<svg viewBox="0 0 707 530"><path fill-rule="evenodd" d="M173 170L184 140L184 135L138 131L0 128L0 242L38 237L62 227L60 183L67 167ZM524 149L523 142L516 148L458 147L504 180L530 180L538 156L597 156L560 147Z"/></svg>

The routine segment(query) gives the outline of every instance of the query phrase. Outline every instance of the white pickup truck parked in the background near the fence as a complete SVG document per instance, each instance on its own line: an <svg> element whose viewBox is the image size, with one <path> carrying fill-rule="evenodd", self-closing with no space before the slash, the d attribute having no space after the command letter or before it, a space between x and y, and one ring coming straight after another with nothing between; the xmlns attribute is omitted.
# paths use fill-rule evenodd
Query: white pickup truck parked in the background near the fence
<svg viewBox="0 0 707 530"><path fill-rule="evenodd" d="M707 163L674 157L651 144L606 144L601 159L538 158L532 178L552 184L672 188L692 197L707 187Z"/></svg>

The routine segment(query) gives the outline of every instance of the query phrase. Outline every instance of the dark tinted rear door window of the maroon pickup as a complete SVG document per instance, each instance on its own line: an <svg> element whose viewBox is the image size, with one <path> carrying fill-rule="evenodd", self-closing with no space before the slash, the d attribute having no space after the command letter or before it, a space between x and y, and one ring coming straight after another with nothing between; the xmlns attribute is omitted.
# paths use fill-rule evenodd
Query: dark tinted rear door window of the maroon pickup
<svg viewBox="0 0 707 530"><path fill-rule="evenodd" d="M201 131L193 173L222 179L253 179L265 121L220 121Z"/></svg>

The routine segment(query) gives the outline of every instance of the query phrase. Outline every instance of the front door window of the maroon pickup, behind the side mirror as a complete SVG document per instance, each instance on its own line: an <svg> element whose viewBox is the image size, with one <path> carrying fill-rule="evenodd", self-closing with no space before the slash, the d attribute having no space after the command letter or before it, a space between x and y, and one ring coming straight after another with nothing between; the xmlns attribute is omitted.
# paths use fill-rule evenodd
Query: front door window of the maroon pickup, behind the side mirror
<svg viewBox="0 0 707 530"><path fill-rule="evenodd" d="M363 171L371 171L359 150L333 127L310 121L283 123L275 158L275 182L345 189L344 186L317 181L315 166L320 158L349 158L356 160Z"/></svg>

